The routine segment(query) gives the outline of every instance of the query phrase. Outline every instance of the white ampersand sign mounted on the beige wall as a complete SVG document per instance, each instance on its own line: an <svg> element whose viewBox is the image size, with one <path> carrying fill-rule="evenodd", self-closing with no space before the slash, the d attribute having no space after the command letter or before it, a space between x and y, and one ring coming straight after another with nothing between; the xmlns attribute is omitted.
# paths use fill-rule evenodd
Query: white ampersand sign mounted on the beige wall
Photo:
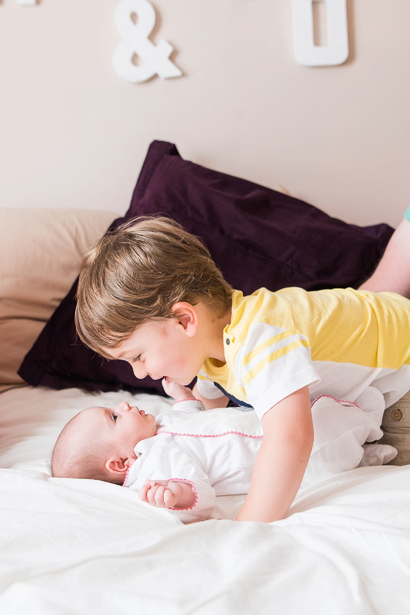
<svg viewBox="0 0 410 615"><path fill-rule="evenodd" d="M136 16L136 23L133 22ZM148 0L120 0L115 10L115 27L122 41L114 51L112 63L118 76L140 83L155 74L161 79L180 77L182 72L169 60L173 47L161 39L154 45L149 37L155 26L155 9ZM133 63L133 57L139 63Z"/></svg>

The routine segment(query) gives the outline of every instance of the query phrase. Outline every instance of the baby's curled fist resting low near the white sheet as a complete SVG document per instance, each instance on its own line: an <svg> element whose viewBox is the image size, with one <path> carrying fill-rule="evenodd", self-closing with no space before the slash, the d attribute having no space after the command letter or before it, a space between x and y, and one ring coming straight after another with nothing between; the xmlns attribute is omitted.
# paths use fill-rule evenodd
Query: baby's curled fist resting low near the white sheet
<svg viewBox="0 0 410 615"><path fill-rule="evenodd" d="M195 493L189 483L147 480L139 490L139 499L158 508L184 509L195 504Z"/></svg>

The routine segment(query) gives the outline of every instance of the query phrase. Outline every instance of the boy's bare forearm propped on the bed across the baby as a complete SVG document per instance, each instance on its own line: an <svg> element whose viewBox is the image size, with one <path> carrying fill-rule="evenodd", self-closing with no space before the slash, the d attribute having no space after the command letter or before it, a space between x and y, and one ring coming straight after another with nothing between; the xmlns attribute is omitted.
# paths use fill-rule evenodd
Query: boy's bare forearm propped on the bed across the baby
<svg viewBox="0 0 410 615"><path fill-rule="evenodd" d="M308 387L268 410L261 424L263 440L237 521L277 521L295 499L314 438Z"/></svg>

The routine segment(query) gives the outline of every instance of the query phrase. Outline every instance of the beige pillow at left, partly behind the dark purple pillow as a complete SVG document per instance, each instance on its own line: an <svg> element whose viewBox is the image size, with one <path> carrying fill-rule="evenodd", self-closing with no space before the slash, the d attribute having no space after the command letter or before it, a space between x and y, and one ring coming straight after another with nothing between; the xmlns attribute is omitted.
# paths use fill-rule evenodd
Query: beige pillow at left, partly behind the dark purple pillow
<svg viewBox="0 0 410 615"><path fill-rule="evenodd" d="M79 272L82 252L118 214L0 208L0 391L23 381L21 361Z"/></svg>

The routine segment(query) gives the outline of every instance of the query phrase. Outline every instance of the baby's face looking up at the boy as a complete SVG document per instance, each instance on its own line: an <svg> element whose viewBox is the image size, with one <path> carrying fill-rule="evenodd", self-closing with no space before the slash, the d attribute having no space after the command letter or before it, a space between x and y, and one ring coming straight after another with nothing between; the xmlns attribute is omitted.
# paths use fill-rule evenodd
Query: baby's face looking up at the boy
<svg viewBox="0 0 410 615"><path fill-rule="evenodd" d="M155 416L146 415L144 410L131 407L127 402L115 408L86 408L79 416L85 433L95 434L101 442L112 445L112 453L122 458L135 458L137 443L151 438L157 431Z"/></svg>

